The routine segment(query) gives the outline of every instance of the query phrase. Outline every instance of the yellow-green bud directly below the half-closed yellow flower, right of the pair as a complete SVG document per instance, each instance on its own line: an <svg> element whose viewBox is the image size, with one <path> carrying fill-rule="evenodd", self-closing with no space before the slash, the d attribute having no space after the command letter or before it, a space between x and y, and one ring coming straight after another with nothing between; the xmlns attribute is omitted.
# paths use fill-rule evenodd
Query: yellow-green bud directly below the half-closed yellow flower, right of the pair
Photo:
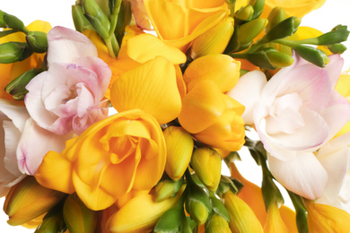
<svg viewBox="0 0 350 233"><path fill-rule="evenodd" d="M197 148L192 155L192 168L206 187L215 191L220 183L221 157L211 148Z"/></svg>

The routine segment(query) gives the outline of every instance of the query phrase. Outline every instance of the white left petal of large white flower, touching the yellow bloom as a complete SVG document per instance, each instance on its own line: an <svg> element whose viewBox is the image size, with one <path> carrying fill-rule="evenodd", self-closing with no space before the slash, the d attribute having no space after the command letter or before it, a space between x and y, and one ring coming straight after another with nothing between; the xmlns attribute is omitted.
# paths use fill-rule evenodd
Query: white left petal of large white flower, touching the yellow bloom
<svg viewBox="0 0 350 233"><path fill-rule="evenodd" d="M267 78L264 73L252 71L241 76L236 86L227 92L228 96L244 105L245 111L242 117L246 125L252 125L254 123L253 111L258 104L260 93L266 83Z"/></svg>

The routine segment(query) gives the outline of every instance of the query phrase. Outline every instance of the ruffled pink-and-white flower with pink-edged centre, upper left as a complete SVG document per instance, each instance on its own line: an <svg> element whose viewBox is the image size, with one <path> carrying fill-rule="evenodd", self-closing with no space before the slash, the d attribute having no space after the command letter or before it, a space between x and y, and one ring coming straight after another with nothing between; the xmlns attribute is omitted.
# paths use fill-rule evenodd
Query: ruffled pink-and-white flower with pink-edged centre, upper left
<svg viewBox="0 0 350 233"><path fill-rule="evenodd" d="M109 65L82 33L63 27L48 32L48 71L26 86L25 104L33 120L55 134L82 134L108 116L103 100Z"/></svg>

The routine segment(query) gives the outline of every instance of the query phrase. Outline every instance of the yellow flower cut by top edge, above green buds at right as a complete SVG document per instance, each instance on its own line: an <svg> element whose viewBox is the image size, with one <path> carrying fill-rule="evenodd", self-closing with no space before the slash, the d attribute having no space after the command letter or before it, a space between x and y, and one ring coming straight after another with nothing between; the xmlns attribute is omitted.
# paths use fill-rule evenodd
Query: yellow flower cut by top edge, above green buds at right
<svg viewBox="0 0 350 233"><path fill-rule="evenodd" d="M268 13L276 6L284 9L288 16L303 17L307 13L318 9L326 0L266 0L262 18L267 18Z"/></svg>

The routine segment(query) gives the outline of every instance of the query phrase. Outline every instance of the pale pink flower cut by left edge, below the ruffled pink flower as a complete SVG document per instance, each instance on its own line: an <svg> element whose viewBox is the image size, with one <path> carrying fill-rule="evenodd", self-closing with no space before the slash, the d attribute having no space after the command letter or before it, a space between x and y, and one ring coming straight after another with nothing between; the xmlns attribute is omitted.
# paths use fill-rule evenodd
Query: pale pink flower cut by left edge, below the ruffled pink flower
<svg viewBox="0 0 350 233"><path fill-rule="evenodd" d="M27 175L34 175L48 151L60 152L68 137L36 125L27 109L0 99L0 196Z"/></svg>

